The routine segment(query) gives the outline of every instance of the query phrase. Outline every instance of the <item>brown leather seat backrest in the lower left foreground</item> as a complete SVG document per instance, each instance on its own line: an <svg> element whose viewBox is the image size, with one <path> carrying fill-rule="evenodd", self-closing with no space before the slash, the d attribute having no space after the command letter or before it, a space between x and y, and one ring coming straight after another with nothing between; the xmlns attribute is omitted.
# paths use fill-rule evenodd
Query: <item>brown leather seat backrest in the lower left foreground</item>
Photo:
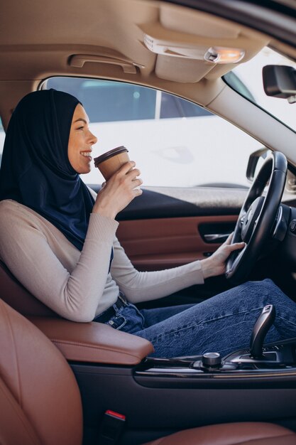
<svg viewBox="0 0 296 445"><path fill-rule="evenodd" d="M82 444L75 376L55 345L0 300L1 445Z"/></svg>

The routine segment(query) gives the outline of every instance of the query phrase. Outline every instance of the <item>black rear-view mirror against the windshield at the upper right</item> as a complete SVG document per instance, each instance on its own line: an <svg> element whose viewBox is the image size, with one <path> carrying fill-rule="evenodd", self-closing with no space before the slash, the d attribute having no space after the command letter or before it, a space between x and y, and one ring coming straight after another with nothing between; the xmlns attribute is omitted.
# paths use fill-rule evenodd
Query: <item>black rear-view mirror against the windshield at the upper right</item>
<svg viewBox="0 0 296 445"><path fill-rule="evenodd" d="M265 94L296 102L296 70L285 65L266 65L262 70Z"/></svg>

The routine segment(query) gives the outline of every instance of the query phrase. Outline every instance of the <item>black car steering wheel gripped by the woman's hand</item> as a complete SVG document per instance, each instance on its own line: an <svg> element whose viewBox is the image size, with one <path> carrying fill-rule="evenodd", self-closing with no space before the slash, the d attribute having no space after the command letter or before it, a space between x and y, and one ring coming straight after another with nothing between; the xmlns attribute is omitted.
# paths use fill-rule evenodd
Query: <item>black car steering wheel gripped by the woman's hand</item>
<svg viewBox="0 0 296 445"><path fill-rule="evenodd" d="M242 282L248 277L256 259L262 253L280 209L286 176L285 155L273 151L265 159L241 208L231 242L244 241L246 246L241 251L232 252L227 259L227 279ZM267 193L262 195L267 183Z"/></svg>

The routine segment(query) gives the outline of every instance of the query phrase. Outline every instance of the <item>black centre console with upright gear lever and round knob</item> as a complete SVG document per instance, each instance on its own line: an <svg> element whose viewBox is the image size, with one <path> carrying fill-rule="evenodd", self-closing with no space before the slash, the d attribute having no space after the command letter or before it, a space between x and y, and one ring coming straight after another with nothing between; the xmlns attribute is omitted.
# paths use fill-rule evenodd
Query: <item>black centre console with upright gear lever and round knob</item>
<svg viewBox="0 0 296 445"><path fill-rule="evenodd" d="M296 339L270 343L263 346L268 330L275 320L275 309L269 304L263 308L261 315L253 327L250 347L237 350L221 357L219 353L205 353L197 357L182 357L174 359L148 358L142 368L136 371L135 377L142 384L148 384L148 376L177 376L186 381L190 377L190 384L195 385L201 380L233 382L239 377L256 381L263 377L272 377L277 380L296 377ZM146 377L146 378L145 378ZM192 381L192 379L194 379ZM266 380L265 382L268 382ZM146 382L146 383L145 383ZM195 386L194 385L194 386Z"/></svg>

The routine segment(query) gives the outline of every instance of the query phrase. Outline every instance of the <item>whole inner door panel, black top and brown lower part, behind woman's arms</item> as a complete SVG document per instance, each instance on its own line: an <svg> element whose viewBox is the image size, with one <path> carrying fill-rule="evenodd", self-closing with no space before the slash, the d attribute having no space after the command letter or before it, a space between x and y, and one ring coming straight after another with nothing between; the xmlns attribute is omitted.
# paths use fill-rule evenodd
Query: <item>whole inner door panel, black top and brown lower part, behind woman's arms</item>
<svg viewBox="0 0 296 445"><path fill-rule="evenodd" d="M176 267L221 245L245 196L237 188L145 188L119 213L116 235L138 270Z"/></svg>

